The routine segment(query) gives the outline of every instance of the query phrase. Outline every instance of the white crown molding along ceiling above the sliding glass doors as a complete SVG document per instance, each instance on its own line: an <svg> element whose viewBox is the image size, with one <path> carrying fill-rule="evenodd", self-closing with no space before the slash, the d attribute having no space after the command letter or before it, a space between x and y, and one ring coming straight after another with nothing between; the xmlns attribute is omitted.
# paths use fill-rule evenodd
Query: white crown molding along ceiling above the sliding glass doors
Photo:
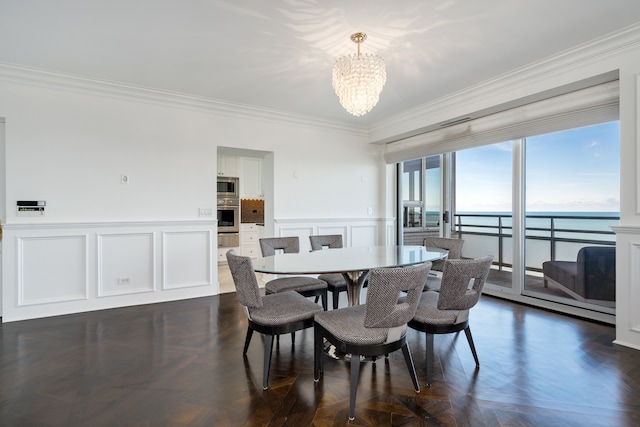
<svg viewBox="0 0 640 427"><path fill-rule="evenodd" d="M558 78L570 79L572 71L579 70L591 64L602 62L608 58L622 55L632 50L640 48L640 23L625 27L619 31L607 34L590 42L567 49L556 55L536 61L526 66L517 68L508 73L496 76L477 85L448 94L442 98L435 99L411 110L382 120L379 124L370 128L370 142L387 143L397 141L410 136L432 130L439 127L439 123L459 117L474 115L486 115L500 111L501 109L512 108L517 105L487 105L487 111L478 113L477 110L465 111L466 105L478 105L479 100L510 99L517 94L522 100L520 105L532 101L540 100L546 93L535 91L535 83ZM614 70L604 72L603 78L611 78ZM617 73L617 70L615 70ZM617 74L616 74L617 75ZM591 76L593 77L593 76ZM597 78L597 76L596 76ZM585 77L586 81L589 79ZM575 79L574 79L575 80ZM594 82L593 84L603 83ZM573 81L566 81L569 89ZM533 89L531 89L533 88ZM529 90L532 93L526 93ZM451 111L458 111L456 117L446 117Z"/></svg>

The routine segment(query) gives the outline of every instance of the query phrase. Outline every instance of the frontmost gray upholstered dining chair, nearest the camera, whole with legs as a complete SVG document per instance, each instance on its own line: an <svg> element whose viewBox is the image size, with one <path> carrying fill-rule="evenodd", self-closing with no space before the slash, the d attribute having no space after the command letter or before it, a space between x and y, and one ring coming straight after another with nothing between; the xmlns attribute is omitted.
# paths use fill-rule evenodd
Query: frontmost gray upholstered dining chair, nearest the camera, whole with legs
<svg viewBox="0 0 640 427"><path fill-rule="evenodd" d="M415 314L431 263L408 268L377 268L369 272L367 303L317 313L314 320L313 378L323 370L323 343L326 339L344 353L351 354L349 419L355 417L360 356L377 357L402 349L416 392L420 392L411 351L407 343L407 322ZM399 300L401 293L406 297Z"/></svg>

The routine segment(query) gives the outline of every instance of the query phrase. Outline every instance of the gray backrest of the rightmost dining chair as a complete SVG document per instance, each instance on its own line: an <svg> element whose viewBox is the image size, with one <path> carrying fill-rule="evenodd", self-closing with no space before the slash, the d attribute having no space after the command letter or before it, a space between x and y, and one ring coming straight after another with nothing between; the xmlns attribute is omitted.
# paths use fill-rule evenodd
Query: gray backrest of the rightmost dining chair
<svg viewBox="0 0 640 427"><path fill-rule="evenodd" d="M438 309L469 310L476 305L492 262L492 255L476 259L446 260L442 272Z"/></svg>

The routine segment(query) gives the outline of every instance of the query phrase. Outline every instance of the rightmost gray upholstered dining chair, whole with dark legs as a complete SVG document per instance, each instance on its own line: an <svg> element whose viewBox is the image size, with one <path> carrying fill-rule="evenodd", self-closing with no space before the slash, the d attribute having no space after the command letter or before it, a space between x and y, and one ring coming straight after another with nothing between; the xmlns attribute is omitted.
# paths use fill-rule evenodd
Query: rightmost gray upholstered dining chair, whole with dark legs
<svg viewBox="0 0 640 427"><path fill-rule="evenodd" d="M464 330L476 362L480 367L476 347L469 328L469 311L478 303L489 275L493 256L477 259L447 260L439 292L422 293L409 327L426 333L427 385L433 376L433 338L436 334L451 334Z"/></svg>

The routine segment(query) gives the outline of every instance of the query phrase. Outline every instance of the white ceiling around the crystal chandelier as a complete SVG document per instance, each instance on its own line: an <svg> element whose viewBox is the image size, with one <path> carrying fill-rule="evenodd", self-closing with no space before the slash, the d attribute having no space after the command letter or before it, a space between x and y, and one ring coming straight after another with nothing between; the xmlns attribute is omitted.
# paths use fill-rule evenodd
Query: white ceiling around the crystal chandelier
<svg viewBox="0 0 640 427"><path fill-rule="evenodd" d="M638 0L0 0L0 63L368 126L640 22ZM336 58L387 63L369 114Z"/></svg>

